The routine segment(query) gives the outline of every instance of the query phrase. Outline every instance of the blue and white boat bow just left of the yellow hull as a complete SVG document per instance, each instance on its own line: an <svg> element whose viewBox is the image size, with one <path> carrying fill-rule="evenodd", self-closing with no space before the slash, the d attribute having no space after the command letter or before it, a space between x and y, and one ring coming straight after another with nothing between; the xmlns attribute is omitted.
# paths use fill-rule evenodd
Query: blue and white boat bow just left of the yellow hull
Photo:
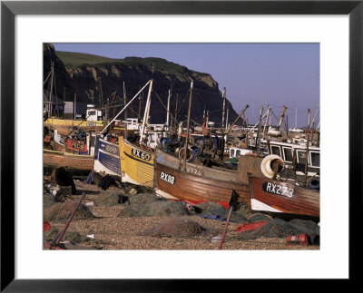
<svg viewBox="0 0 363 293"><path fill-rule="evenodd" d="M96 141L93 171L120 177L120 149L118 142L108 142L100 136L97 136Z"/></svg>

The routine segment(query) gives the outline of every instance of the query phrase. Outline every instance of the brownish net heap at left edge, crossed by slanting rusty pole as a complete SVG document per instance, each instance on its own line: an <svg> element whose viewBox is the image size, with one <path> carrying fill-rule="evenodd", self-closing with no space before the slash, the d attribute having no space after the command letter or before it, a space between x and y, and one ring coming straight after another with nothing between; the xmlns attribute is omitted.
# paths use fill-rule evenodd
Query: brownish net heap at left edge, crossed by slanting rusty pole
<svg viewBox="0 0 363 293"><path fill-rule="evenodd" d="M74 211L76 201L56 202L44 210L44 220L68 220ZM93 219L93 213L84 204L80 204L75 211L73 220Z"/></svg>

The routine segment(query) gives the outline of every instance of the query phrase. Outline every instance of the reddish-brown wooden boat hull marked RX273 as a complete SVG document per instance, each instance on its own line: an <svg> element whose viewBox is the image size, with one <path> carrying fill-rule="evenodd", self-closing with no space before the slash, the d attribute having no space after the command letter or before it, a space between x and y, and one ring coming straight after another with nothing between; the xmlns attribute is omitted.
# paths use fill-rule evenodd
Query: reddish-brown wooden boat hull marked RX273
<svg viewBox="0 0 363 293"><path fill-rule="evenodd" d="M319 190L299 187L269 178L250 176L252 210L319 217Z"/></svg>

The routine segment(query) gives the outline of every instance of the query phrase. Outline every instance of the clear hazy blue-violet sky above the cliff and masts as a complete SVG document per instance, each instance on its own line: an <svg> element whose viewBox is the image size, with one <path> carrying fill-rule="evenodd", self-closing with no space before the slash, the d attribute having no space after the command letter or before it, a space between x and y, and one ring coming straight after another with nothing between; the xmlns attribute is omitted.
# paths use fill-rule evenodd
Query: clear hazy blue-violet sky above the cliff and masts
<svg viewBox="0 0 363 293"><path fill-rule="evenodd" d="M288 108L289 128L319 123L319 44L248 44L248 43L93 43L54 44L56 51L97 54L110 58L159 57L191 70L210 73L226 88L233 109L240 111L249 104L249 123L259 121L270 105L271 124ZM297 112L297 115L296 115ZM276 118L275 118L276 117Z"/></svg>

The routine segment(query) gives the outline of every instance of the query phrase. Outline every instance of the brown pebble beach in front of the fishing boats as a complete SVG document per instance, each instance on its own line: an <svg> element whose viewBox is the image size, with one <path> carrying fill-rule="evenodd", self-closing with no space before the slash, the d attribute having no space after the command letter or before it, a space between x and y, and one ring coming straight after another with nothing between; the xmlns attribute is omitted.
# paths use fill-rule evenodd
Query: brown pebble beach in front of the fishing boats
<svg viewBox="0 0 363 293"><path fill-rule="evenodd" d="M67 203L73 210L83 192L85 197L74 214L64 237L59 245L64 249L103 249L103 250L217 250L220 249L221 237L226 228L226 220L206 219L183 207L179 210L166 208L170 213L155 212L149 215L138 214L141 206L150 205L146 197L139 202L115 200L116 195L135 194L137 189L128 186L126 189L119 184L111 185L102 190L97 184L88 184L82 180L74 180L76 194L66 197L64 202L53 202L51 196L44 195L44 222L49 225L44 231L44 244L49 243L64 229L69 216L54 213L55 207ZM140 190L139 190L140 193ZM142 194L143 195L143 194ZM136 197L135 197L136 198ZM132 197L131 197L132 199ZM146 199L146 200L145 200ZM51 201L51 202L49 202ZM150 201L150 200L149 200ZM167 204L166 201L163 200ZM174 200L172 200L174 201ZM174 203L174 202L173 202ZM180 204L180 203L179 203ZM181 205L181 204L180 204ZM182 205L181 205L182 206ZM77 213L87 210L83 215ZM162 208L165 210L165 208ZM131 210L131 211L130 211ZM140 209L139 209L140 210ZM169 211L170 210L170 211ZM228 210L226 210L227 212ZM167 212L167 213L168 213ZM64 215L71 214L65 211ZM232 212L233 214L233 212ZM256 216L256 215L254 215ZM266 217L266 216L263 216ZM244 239L237 231L241 222L239 218L228 224L221 249L224 250L317 250L319 245L301 245L287 243L286 237L254 237ZM241 218L243 219L243 218ZM261 234L263 235L263 234Z"/></svg>

